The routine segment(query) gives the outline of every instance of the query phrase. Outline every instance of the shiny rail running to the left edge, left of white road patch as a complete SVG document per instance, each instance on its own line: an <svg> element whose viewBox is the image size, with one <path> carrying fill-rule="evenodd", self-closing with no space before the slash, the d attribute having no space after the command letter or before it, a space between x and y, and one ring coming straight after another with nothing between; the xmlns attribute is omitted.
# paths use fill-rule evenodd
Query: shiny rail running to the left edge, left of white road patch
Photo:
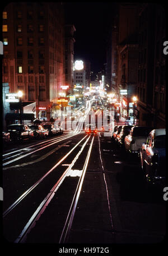
<svg viewBox="0 0 168 256"><path fill-rule="evenodd" d="M57 166L59 166L60 163L62 163L68 156L73 152L73 150L78 147L78 145L87 137L86 135L83 139L81 139L62 159L60 159L48 172L45 173L43 177L41 177L38 181L35 182L34 185L32 185L29 189L27 189L21 196L18 198L10 207L6 209L3 213L3 217L7 216L8 213L12 211L18 205L22 199L24 199L36 186L40 184L41 181L45 179L46 176L49 175L50 172L52 172Z"/></svg>

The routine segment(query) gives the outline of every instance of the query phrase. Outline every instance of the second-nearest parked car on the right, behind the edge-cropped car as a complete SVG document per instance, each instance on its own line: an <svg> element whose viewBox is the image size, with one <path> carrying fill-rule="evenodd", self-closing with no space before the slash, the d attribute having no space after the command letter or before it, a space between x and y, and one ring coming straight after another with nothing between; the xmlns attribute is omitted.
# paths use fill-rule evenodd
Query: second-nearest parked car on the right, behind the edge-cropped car
<svg viewBox="0 0 168 256"><path fill-rule="evenodd" d="M130 134L125 136L124 145L126 152L130 154L139 154L142 143L146 141L152 127L133 126Z"/></svg>

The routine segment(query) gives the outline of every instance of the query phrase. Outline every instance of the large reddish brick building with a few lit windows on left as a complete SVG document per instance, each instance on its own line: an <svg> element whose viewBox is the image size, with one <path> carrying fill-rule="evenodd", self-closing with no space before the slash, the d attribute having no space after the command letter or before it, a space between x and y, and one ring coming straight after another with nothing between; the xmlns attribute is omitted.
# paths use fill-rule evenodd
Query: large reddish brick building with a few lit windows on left
<svg viewBox="0 0 168 256"><path fill-rule="evenodd" d="M3 83L22 102L36 102L36 116L54 113L64 75L62 3L16 2L3 10Z"/></svg>

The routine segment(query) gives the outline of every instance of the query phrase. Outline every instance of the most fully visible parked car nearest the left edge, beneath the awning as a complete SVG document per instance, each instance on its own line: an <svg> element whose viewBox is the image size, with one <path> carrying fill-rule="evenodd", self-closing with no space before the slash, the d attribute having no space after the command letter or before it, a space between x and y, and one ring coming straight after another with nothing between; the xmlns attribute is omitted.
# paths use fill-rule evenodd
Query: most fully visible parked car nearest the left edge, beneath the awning
<svg viewBox="0 0 168 256"><path fill-rule="evenodd" d="M11 141L21 141L34 138L34 133L27 125L13 124L7 127Z"/></svg>

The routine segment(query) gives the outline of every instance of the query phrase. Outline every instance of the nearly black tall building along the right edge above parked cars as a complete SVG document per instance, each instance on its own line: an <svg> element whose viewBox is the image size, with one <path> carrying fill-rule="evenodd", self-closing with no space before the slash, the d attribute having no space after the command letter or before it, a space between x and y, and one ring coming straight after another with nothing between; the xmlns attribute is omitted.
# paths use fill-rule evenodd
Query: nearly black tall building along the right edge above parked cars
<svg viewBox="0 0 168 256"><path fill-rule="evenodd" d="M165 10L160 4L144 4L139 11L139 60L137 111L139 125L166 126Z"/></svg>

